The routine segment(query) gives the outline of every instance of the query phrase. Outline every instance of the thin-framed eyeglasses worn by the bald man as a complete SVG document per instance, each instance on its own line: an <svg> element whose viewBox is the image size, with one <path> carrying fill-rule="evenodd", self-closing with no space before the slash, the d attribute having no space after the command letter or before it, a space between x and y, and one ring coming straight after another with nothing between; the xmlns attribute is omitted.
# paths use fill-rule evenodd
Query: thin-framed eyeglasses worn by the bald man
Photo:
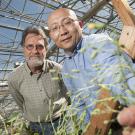
<svg viewBox="0 0 135 135"><path fill-rule="evenodd" d="M60 27L61 26L63 26L64 28L71 27L73 25L73 22L75 22L75 21L77 21L77 20L73 20L71 18L65 18L62 21L61 25L59 25L59 24L53 24L51 26L50 32L51 33L54 33L54 34L55 33L59 33L59 30L60 30Z"/></svg>

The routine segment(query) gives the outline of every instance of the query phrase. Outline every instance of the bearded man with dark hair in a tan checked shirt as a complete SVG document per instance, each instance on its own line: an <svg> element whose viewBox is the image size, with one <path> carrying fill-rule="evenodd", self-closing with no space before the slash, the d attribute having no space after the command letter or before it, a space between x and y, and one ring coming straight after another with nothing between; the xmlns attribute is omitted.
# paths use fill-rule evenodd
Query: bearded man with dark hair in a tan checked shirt
<svg viewBox="0 0 135 135"><path fill-rule="evenodd" d="M41 28L26 28L21 45L25 63L9 75L9 90L30 122L30 130L52 135L60 122L61 109L67 105L60 65L45 59L48 43Z"/></svg>

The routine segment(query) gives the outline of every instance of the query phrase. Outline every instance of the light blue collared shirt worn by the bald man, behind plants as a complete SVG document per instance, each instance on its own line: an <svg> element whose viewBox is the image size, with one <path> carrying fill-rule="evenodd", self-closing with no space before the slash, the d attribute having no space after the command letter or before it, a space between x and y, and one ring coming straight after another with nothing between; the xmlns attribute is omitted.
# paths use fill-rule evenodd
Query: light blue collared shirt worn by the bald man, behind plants
<svg viewBox="0 0 135 135"><path fill-rule="evenodd" d="M134 102L131 88L135 88L135 76L127 61L130 62L105 34L83 36L72 55L66 54L63 80L70 91L73 107L79 108L78 114L86 111L86 123L101 86L109 88L112 96L128 97L129 103Z"/></svg>

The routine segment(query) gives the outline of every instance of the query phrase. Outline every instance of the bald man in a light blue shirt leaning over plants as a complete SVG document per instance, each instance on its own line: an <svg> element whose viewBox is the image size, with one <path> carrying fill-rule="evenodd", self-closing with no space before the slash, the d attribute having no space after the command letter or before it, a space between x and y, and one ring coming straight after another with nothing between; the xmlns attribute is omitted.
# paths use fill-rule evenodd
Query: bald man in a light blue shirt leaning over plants
<svg viewBox="0 0 135 135"><path fill-rule="evenodd" d="M66 8L49 15L48 28L56 46L64 49L62 77L71 92L71 103L77 108L79 119L86 113L84 124L90 120L100 88L109 89L122 104L132 103L134 73L108 35L84 36L82 22L74 11ZM129 99L128 103L124 98Z"/></svg>

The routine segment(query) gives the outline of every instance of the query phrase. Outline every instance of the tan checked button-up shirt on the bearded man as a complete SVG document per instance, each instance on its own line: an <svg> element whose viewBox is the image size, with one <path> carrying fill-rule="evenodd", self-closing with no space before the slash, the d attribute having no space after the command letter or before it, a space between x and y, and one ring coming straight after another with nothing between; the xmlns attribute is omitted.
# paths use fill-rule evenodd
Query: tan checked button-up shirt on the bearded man
<svg viewBox="0 0 135 135"><path fill-rule="evenodd" d="M24 63L10 74L9 90L27 120L46 122L60 117L60 109L67 101L59 69L59 64L45 60L41 73L32 75Z"/></svg>

